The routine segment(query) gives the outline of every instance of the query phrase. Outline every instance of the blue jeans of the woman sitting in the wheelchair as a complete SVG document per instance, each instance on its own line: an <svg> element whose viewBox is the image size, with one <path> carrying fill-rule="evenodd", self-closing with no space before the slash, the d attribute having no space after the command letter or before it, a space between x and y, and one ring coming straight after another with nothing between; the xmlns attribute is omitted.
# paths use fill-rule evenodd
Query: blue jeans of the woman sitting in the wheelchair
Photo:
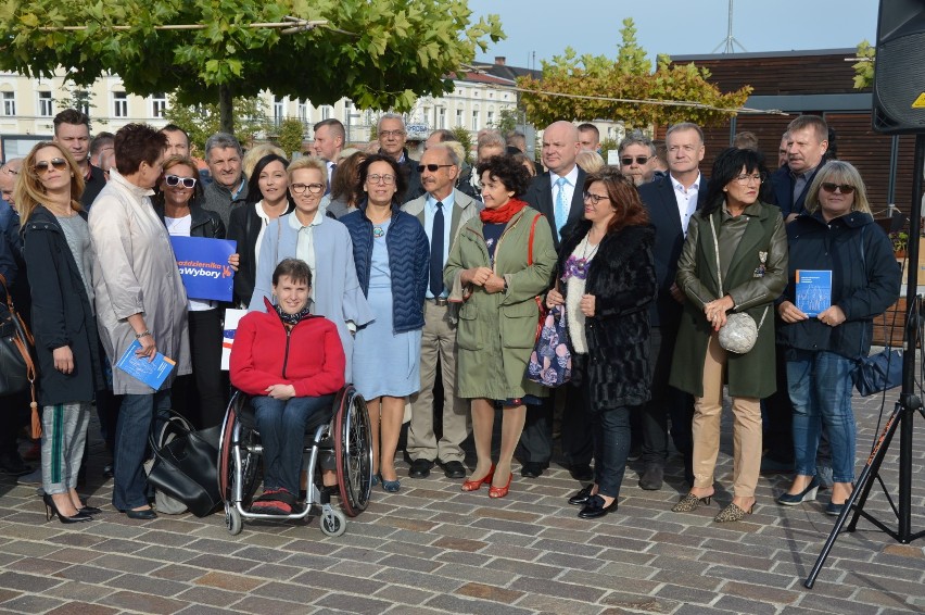
<svg viewBox="0 0 925 615"><path fill-rule="evenodd" d="M312 415L331 410L333 403L334 396L251 400L264 448L264 490L282 488L299 494L305 426Z"/></svg>

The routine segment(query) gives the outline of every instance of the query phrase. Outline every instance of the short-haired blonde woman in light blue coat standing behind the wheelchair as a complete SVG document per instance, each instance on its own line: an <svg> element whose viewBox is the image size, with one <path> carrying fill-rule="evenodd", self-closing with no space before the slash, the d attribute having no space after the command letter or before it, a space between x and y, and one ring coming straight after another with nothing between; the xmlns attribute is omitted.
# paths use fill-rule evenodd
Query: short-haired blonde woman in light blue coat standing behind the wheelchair
<svg viewBox="0 0 925 615"><path fill-rule="evenodd" d="M346 355L344 378L351 382L353 331L373 316L356 278L350 233L343 224L325 215L320 206L327 183L328 167L319 158L303 156L289 165L289 192L295 210L267 226L249 310L263 312L266 300L276 302L271 278L278 263L284 259L307 263L314 280L308 304L313 314L325 316L338 327Z"/></svg>

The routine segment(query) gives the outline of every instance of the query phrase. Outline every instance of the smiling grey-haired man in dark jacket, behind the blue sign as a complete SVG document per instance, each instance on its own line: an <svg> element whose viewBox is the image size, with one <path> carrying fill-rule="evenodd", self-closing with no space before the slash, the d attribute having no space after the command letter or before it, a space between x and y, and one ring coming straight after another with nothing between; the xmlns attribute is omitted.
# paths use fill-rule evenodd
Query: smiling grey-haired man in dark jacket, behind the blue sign
<svg viewBox="0 0 925 615"><path fill-rule="evenodd" d="M203 208L221 217L225 228L231 210L248 199L248 178L244 176L241 143L227 133L216 133L205 141L205 164L212 174L212 183L203 190Z"/></svg>

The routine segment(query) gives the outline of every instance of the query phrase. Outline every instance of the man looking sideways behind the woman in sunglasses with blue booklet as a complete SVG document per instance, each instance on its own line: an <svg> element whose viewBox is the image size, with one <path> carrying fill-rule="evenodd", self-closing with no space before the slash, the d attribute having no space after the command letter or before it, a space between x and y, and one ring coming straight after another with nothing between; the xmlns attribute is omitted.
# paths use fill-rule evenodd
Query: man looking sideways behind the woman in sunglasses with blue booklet
<svg viewBox="0 0 925 615"><path fill-rule="evenodd" d="M806 211L807 189L828 150L828 125L819 115L800 115L787 126L787 166L771 174L784 222Z"/></svg>

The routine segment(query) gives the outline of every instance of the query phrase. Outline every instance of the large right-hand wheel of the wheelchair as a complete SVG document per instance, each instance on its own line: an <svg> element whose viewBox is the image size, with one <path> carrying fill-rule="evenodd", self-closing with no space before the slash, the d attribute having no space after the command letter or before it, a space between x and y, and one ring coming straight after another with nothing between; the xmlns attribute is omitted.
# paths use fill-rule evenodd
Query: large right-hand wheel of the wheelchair
<svg viewBox="0 0 925 615"><path fill-rule="evenodd" d="M372 432L366 401L352 386L337 400L334 456L341 506L355 517L366 510L372 489Z"/></svg>

